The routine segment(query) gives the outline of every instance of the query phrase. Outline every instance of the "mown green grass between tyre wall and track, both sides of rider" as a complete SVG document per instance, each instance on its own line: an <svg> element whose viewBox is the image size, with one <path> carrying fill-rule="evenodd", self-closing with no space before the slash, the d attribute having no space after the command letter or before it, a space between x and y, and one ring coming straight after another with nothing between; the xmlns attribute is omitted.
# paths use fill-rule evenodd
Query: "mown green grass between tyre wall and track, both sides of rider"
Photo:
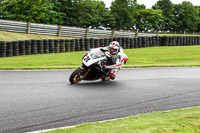
<svg viewBox="0 0 200 133"><path fill-rule="evenodd" d="M0 58L0 69L77 68L85 52L25 55ZM200 66L200 46L171 46L125 49L129 56L123 67Z"/></svg>

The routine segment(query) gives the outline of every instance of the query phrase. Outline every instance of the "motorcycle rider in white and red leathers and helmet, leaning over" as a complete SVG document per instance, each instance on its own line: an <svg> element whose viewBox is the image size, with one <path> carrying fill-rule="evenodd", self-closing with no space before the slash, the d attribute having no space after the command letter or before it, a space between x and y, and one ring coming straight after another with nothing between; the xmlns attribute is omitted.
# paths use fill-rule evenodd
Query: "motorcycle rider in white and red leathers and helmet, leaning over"
<svg viewBox="0 0 200 133"><path fill-rule="evenodd" d="M117 41L112 41L108 46L101 48L101 50L105 51L106 56L110 60L110 63L104 66L105 69L110 70L108 77L114 80L123 63L126 64L128 56ZM103 77L102 80L109 80L108 77Z"/></svg>

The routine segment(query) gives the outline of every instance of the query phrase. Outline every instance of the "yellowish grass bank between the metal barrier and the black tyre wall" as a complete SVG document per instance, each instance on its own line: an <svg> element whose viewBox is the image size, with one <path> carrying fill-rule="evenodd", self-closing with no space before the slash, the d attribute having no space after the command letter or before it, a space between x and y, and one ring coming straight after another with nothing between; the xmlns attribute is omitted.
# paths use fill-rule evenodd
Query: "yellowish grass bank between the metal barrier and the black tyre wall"
<svg viewBox="0 0 200 133"><path fill-rule="evenodd" d="M36 39L66 39L69 37L57 37L57 36L47 36L47 35L37 35L37 34L23 34L0 31L0 41L16 41L16 40L36 40ZM71 37L72 38L72 37Z"/></svg>

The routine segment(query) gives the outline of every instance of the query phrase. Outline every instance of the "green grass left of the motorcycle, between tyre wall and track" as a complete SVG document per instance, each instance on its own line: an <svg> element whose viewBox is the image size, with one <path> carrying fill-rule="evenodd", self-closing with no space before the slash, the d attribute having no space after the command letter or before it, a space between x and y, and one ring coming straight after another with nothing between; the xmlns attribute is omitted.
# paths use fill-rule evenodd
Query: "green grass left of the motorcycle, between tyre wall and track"
<svg viewBox="0 0 200 133"><path fill-rule="evenodd" d="M0 69L66 69L81 64L85 52L54 53L0 58Z"/></svg>

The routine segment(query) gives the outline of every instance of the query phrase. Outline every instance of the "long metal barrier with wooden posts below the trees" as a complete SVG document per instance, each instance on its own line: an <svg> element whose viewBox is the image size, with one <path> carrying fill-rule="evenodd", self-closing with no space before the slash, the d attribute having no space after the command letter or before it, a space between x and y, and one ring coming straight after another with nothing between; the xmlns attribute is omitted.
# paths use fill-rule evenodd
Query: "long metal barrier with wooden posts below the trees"
<svg viewBox="0 0 200 133"><path fill-rule="evenodd" d="M96 30L60 25L36 24L30 22L18 22L0 19L0 31L10 31L26 34L41 34L62 37L78 38L109 38L109 37L135 37L157 36L157 34L123 32L112 30Z"/></svg>

